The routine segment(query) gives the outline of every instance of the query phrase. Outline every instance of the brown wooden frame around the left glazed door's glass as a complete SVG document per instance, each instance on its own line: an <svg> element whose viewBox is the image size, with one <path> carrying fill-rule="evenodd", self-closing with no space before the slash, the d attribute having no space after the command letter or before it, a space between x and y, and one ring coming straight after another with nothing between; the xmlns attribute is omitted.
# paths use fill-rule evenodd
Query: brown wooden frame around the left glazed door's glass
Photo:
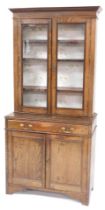
<svg viewBox="0 0 105 210"><path fill-rule="evenodd" d="M48 59L47 59L47 106L24 107L23 104L23 67L22 67L22 25L46 24L48 25ZM49 19L14 19L14 111L34 112L37 114L51 113L51 20Z"/></svg>

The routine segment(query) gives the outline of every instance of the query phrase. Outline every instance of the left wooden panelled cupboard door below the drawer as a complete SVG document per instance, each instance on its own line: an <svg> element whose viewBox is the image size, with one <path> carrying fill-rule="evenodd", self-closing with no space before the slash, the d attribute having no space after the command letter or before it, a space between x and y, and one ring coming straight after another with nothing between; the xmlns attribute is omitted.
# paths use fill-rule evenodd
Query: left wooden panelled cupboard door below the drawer
<svg viewBox="0 0 105 210"><path fill-rule="evenodd" d="M45 185L45 138L40 134L8 132L8 184L26 188Z"/></svg>

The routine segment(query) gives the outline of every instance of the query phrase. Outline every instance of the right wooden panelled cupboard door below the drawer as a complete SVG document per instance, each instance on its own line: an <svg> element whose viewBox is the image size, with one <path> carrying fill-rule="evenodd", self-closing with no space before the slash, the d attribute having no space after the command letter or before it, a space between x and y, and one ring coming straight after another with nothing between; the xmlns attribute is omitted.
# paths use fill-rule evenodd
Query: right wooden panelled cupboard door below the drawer
<svg viewBox="0 0 105 210"><path fill-rule="evenodd" d="M46 159L47 188L86 191L87 143L81 137L48 136Z"/></svg>

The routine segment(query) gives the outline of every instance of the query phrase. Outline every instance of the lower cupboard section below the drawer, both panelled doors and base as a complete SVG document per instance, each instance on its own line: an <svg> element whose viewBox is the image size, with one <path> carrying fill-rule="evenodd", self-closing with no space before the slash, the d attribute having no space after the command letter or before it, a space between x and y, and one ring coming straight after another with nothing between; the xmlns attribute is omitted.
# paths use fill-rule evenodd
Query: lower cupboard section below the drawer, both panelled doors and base
<svg viewBox="0 0 105 210"><path fill-rule="evenodd" d="M7 193L54 191L88 204L91 139L8 131Z"/></svg>

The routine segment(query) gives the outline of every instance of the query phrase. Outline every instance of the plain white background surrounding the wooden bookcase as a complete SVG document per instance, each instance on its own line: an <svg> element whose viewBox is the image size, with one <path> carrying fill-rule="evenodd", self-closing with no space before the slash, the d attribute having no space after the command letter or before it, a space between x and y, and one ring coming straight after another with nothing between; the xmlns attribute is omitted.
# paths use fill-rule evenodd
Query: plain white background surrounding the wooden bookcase
<svg viewBox="0 0 105 210"><path fill-rule="evenodd" d="M67 198L43 194L5 194L5 139L4 116L13 111L13 7L49 6L94 6L100 5L102 12L97 21L96 51L96 98L95 112L98 113L96 142L95 189L88 207ZM105 0L2 0L0 8L0 209L105 209Z"/></svg>

